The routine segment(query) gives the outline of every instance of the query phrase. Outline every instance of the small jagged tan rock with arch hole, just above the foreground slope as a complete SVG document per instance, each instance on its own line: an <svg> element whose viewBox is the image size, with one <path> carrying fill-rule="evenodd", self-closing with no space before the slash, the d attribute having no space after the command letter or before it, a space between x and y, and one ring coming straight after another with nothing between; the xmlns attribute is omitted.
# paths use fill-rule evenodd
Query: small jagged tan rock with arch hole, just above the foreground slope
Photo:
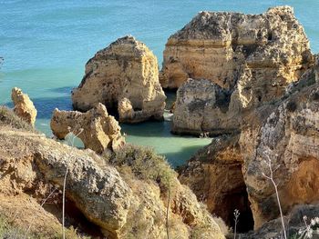
<svg viewBox="0 0 319 239"><path fill-rule="evenodd" d="M50 126L58 139L65 139L69 133L76 134L86 148L98 154L105 149L118 150L125 144L117 120L108 115L107 108L100 103L86 113L55 109Z"/></svg>

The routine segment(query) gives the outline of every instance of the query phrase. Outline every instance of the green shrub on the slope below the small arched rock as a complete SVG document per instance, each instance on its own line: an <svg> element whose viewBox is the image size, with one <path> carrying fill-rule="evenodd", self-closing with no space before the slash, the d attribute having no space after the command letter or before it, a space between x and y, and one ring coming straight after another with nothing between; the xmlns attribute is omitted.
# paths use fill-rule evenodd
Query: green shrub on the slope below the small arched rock
<svg viewBox="0 0 319 239"><path fill-rule="evenodd" d="M107 159L109 164L118 166L120 172L130 171L137 178L155 181L166 189L172 179L177 177L176 172L170 168L166 159L155 154L148 147L126 144L118 152L109 155Z"/></svg>

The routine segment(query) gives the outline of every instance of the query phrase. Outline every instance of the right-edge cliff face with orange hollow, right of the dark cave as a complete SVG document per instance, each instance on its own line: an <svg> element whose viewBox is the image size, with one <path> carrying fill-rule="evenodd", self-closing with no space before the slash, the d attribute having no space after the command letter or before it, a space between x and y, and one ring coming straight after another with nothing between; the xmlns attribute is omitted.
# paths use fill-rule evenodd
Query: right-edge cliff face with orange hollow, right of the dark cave
<svg viewBox="0 0 319 239"><path fill-rule="evenodd" d="M264 161L271 159L273 169L278 167L274 180L284 213L295 204L319 200L319 85L314 79L313 75L300 81L292 95L258 109L247 120L251 125L242 130L242 171L255 228L278 215L277 210L269 210L276 208L276 199L273 185L262 176L270 174ZM304 84L310 86L300 88Z"/></svg>

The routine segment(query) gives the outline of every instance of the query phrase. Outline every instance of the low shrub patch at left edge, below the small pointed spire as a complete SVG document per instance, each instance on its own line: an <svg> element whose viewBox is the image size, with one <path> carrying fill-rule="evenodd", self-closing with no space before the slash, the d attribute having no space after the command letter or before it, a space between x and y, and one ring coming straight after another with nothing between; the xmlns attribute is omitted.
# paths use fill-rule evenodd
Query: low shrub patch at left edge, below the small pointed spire
<svg viewBox="0 0 319 239"><path fill-rule="evenodd" d="M0 105L0 125L11 125L16 129L25 129L27 131L36 132L31 124L26 123L15 113L4 105Z"/></svg>

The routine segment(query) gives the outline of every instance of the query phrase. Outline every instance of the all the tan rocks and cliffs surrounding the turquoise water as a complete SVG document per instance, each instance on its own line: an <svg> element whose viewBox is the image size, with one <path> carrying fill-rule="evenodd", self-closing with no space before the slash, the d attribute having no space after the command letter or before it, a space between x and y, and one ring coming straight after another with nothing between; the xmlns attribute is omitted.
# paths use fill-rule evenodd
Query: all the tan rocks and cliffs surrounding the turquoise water
<svg viewBox="0 0 319 239"><path fill-rule="evenodd" d="M14 109L0 106L0 228L6 220L5 230L35 238L60 238L66 225L67 238L270 239L319 227L319 58L293 8L201 12L163 54L159 73L133 36L98 51L72 92L74 111L54 110L52 139L36 132L30 98L12 90ZM177 89L172 133L214 136L176 170L126 144L118 124L163 120L162 88Z"/></svg>

